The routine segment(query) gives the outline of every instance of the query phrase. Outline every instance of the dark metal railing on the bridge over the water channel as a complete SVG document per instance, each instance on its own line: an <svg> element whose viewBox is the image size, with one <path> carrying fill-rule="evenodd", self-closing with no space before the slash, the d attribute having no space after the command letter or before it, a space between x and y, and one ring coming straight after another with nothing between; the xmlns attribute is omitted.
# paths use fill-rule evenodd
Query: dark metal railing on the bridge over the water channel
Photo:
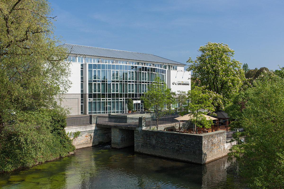
<svg viewBox="0 0 284 189"><path fill-rule="evenodd" d="M139 118L97 116L98 124L139 127Z"/></svg>

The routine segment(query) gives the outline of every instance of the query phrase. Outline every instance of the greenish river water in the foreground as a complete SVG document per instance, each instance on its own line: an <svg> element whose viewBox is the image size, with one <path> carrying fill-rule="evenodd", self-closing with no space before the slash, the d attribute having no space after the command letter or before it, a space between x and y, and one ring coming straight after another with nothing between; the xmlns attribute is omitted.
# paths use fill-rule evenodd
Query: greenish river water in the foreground
<svg viewBox="0 0 284 189"><path fill-rule="evenodd" d="M109 145L76 150L52 162L0 174L0 188L244 188L237 166L222 158L206 165L134 153Z"/></svg>

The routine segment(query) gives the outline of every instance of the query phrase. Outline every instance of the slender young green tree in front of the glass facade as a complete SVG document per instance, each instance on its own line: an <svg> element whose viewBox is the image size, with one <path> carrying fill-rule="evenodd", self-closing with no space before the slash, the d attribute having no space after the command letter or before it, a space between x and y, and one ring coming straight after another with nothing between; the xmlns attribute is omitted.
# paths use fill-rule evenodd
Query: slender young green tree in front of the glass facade
<svg viewBox="0 0 284 189"><path fill-rule="evenodd" d="M155 77L153 84L148 86L147 92L141 96L141 99L144 101L146 107L150 107L150 109L154 110L158 130L158 120L161 116L167 113L163 110L173 101L171 90L168 88L167 84L160 79L160 77Z"/></svg>

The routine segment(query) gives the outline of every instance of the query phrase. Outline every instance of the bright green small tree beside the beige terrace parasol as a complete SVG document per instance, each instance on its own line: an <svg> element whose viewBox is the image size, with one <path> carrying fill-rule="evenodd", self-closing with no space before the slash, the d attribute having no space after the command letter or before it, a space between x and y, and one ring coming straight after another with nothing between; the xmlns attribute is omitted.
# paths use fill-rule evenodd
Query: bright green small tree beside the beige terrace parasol
<svg viewBox="0 0 284 189"><path fill-rule="evenodd" d="M220 95L214 92L196 86L193 90L187 92L189 103L185 107L183 114L189 113L189 115L192 116L191 121L193 121L196 126L210 128L213 122L212 120L206 120L203 114L214 112L213 100L218 99L218 96L220 97ZM207 110L207 112L202 112L202 110Z"/></svg>

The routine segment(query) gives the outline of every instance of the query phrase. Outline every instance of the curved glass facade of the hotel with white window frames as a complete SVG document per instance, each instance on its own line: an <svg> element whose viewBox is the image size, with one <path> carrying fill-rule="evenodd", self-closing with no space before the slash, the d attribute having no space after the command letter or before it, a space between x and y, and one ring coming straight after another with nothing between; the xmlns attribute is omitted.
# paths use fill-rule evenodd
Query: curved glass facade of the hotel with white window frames
<svg viewBox="0 0 284 189"><path fill-rule="evenodd" d="M155 77L166 82L167 66L162 64L74 56L68 57L68 61L81 63L81 114L124 113L127 99L140 100ZM83 63L87 82L83 81ZM86 84L88 108L84 112ZM143 110L143 102L134 104L134 109Z"/></svg>

